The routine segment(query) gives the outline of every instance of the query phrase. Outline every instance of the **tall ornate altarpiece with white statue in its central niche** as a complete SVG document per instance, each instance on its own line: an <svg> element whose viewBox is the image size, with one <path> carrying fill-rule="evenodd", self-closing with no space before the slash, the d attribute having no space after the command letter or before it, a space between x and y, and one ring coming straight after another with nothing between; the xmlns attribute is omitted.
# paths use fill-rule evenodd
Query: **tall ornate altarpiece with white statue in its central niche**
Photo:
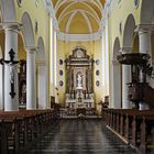
<svg viewBox="0 0 154 154"><path fill-rule="evenodd" d="M94 59L84 47L77 46L66 58L66 107L95 108L92 88Z"/></svg>

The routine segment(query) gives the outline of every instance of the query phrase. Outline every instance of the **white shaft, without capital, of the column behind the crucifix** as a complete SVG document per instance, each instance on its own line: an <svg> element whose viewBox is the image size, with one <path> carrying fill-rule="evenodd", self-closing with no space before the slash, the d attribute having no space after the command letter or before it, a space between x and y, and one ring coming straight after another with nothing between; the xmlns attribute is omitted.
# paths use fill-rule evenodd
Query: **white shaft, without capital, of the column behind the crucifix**
<svg viewBox="0 0 154 154"><path fill-rule="evenodd" d="M12 48L15 53L14 61L18 59L18 33L6 29L6 52L4 59L10 61L9 52ZM15 96L12 98L11 92L11 66L4 64L4 110L6 111L16 111L19 110L19 79L18 79L18 66L13 67L13 79L14 79L14 92Z"/></svg>

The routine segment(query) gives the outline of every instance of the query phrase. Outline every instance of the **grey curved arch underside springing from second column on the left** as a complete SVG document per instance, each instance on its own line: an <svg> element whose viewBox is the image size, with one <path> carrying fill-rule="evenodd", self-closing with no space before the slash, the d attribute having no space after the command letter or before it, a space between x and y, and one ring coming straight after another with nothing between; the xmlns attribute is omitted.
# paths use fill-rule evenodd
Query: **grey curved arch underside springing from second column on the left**
<svg viewBox="0 0 154 154"><path fill-rule="evenodd" d="M34 46L34 32L31 18L28 12L22 15L23 36L26 46Z"/></svg>

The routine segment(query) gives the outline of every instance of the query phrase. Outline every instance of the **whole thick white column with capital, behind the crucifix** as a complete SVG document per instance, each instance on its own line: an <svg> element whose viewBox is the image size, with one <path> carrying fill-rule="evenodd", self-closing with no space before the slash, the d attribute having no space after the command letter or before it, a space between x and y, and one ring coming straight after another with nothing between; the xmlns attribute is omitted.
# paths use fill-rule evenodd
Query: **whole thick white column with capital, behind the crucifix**
<svg viewBox="0 0 154 154"><path fill-rule="evenodd" d="M6 33L4 61L10 61L9 52L13 50L14 59L18 61L18 32L21 30L19 23L3 23ZM11 96L11 84L13 84L14 96ZM19 78L18 64L4 63L4 111L19 110Z"/></svg>

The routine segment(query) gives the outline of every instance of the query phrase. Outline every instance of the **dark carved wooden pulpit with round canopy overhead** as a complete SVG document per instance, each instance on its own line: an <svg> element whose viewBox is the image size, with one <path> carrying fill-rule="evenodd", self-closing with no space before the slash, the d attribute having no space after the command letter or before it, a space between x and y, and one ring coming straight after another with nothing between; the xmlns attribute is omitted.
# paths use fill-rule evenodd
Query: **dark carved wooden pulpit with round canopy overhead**
<svg viewBox="0 0 154 154"><path fill-rule="evenodd" d="M154 96L154 89L146 82L150 56L141 53L128 53L121 54L117 58L123 65L131 65L132 81L128 82L128 99L133 102L133 107L136 109L139 109L140 103L150 106L154 98L152 97Z"/></svg>

